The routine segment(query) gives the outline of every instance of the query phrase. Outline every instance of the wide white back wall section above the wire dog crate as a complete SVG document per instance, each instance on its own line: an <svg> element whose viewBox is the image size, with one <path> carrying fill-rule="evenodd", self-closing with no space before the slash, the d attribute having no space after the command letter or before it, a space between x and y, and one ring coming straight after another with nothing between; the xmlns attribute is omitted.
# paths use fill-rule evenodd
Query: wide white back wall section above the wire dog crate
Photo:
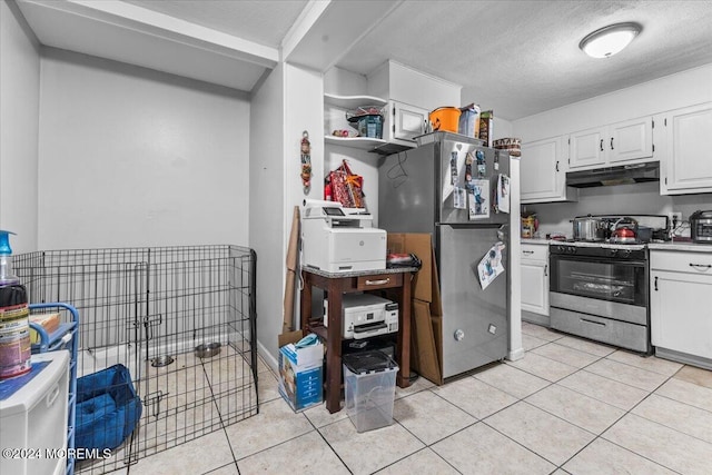
<svg viewBox="0 0 712 475"><path fill-rule="evenodd" d="M41 68L40 248L248 245L247 95L51 48Z"/></svg>

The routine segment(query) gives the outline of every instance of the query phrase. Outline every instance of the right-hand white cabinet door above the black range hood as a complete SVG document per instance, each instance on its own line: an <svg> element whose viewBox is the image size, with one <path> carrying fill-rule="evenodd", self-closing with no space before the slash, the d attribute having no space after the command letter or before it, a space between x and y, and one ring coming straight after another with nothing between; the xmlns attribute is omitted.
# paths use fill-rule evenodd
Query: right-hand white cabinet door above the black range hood
<svg viewBox="0 0 712 475"><path fill-rule="evenodd" d="M609 161L644 160L653 157L653 119L643 117L609 127Z"/></svg>

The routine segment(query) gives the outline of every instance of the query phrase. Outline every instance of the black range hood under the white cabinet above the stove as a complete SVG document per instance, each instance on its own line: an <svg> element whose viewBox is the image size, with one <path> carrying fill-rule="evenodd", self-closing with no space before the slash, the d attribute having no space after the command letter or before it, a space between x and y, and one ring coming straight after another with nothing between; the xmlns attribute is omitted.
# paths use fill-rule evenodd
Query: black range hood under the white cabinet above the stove
<svg viewBox="0 0 712 475"><path fill-rule="evenodd" d="M660 181L660 162L622 165L566 174L566 186L574 188Z"/></svg>

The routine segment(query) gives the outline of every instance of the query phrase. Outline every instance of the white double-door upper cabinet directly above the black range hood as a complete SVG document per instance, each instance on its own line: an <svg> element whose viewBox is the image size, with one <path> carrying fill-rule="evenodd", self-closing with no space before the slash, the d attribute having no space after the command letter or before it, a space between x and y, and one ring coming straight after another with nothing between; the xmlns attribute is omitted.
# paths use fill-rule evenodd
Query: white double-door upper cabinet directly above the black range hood
<svg viewBox="0 0 712 475"><path fill-rule="evenodd" d="M571 169L650 161L653 158L653 118L642 117L573 132L568 147Z"/></svg>

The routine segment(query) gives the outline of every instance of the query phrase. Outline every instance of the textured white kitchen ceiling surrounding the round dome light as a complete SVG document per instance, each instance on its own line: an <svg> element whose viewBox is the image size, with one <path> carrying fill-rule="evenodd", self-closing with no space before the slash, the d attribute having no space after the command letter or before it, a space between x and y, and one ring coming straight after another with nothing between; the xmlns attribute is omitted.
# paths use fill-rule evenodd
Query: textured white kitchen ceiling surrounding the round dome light
<svg viewBox="0 0 712 475"><path fill-rule="evenodd" d="M621 21L643 26L627 49L578 50ZM712 1L405 1L338 66L368 73L388 58L514 120L712 62Z"/></svg>

